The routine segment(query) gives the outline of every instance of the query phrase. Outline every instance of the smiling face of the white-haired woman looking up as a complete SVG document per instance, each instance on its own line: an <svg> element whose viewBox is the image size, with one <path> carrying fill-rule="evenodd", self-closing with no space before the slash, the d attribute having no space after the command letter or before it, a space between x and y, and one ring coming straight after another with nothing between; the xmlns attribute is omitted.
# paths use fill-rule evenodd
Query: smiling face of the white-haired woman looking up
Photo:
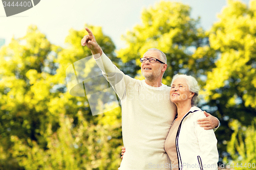
<svg viewBox="0 0 256 170"><path fill-rule="evenodd" d="M170 101L173 103L180 103L191 100L194 96L193 92L189 91L186 79L178 78L172 84L170 90Z"/></svg>

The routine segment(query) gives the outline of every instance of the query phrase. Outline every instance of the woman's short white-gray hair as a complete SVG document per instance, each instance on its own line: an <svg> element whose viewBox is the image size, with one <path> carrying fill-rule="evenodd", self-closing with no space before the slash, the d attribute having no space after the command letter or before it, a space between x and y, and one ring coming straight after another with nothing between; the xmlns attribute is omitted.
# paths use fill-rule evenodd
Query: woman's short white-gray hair
<svg viewBox="0 0 256 170"><path fill-rule="evenodd" d="M178 79L178 78L183 78L183 79L185 79L186 82L187 82L187 85L188 85L188 90L189 90L190 92L195 93L195 95L193 96L193 98L192 98L192 100L191 100L191 106L197 106L197 103L198 103L198 101L199 101L199 99L198 99L198 94L199 94L199 90L200 90L200 86L199 86L197 80L196 80L194 77L192 77L192 76L179 75L179 74L177 74L177 75L174 75L173 80L172 80L172 83L171 83L170 85L172 85L173 82L174 82L176 79Z"/></svg>

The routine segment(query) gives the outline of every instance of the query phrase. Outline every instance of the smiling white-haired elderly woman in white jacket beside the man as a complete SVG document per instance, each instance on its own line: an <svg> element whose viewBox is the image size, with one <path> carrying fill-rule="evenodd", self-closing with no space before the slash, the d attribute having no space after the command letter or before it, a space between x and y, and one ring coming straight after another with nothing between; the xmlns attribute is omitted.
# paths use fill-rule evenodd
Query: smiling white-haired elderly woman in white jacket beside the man
<svg viewBox="0 0 256 170"><path fill-rule="evenodd" d="M178 115L165 140L164 148L172 169L218 169L217 139L214 130L204 130L197 119L205 117L197 106L199 85L194 77L175 75L170 100Z"/></svg>

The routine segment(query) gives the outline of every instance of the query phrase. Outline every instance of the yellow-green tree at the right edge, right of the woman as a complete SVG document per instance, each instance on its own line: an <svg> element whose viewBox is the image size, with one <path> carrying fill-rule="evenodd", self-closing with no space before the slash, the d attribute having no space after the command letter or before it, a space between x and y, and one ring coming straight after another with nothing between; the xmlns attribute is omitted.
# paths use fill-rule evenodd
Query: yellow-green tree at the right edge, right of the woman
<svg viewBox="0 0 256 170"><path fill-rule="evenodd" d="M204 87L208 105L221 120L216 132L221 151L226 151L233 132L228 123L237 119L248 126L256 114L256 1L249 7L239 1L227 2L209 31L210 46L218 58L216 68L207 72ZM226 154L222 152L221 157Z"/></svg>

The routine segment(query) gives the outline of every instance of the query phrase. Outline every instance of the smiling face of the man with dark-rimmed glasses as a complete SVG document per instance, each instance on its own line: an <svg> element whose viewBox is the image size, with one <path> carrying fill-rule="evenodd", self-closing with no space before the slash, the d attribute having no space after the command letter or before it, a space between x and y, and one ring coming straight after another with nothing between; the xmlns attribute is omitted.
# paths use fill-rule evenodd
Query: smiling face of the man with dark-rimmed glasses
<svg viewBox="0 0 256 170"><path fill-rule="evenodd" d="M156 58L160 61L161 59L161 53L159 51L148 51L144 54L143 58ZM160 62L150 63L149 60L147 60L144 63L141 63L141 72L145 79L147 80L155 80L162 76L162 67L163 64Z"/></svg>

